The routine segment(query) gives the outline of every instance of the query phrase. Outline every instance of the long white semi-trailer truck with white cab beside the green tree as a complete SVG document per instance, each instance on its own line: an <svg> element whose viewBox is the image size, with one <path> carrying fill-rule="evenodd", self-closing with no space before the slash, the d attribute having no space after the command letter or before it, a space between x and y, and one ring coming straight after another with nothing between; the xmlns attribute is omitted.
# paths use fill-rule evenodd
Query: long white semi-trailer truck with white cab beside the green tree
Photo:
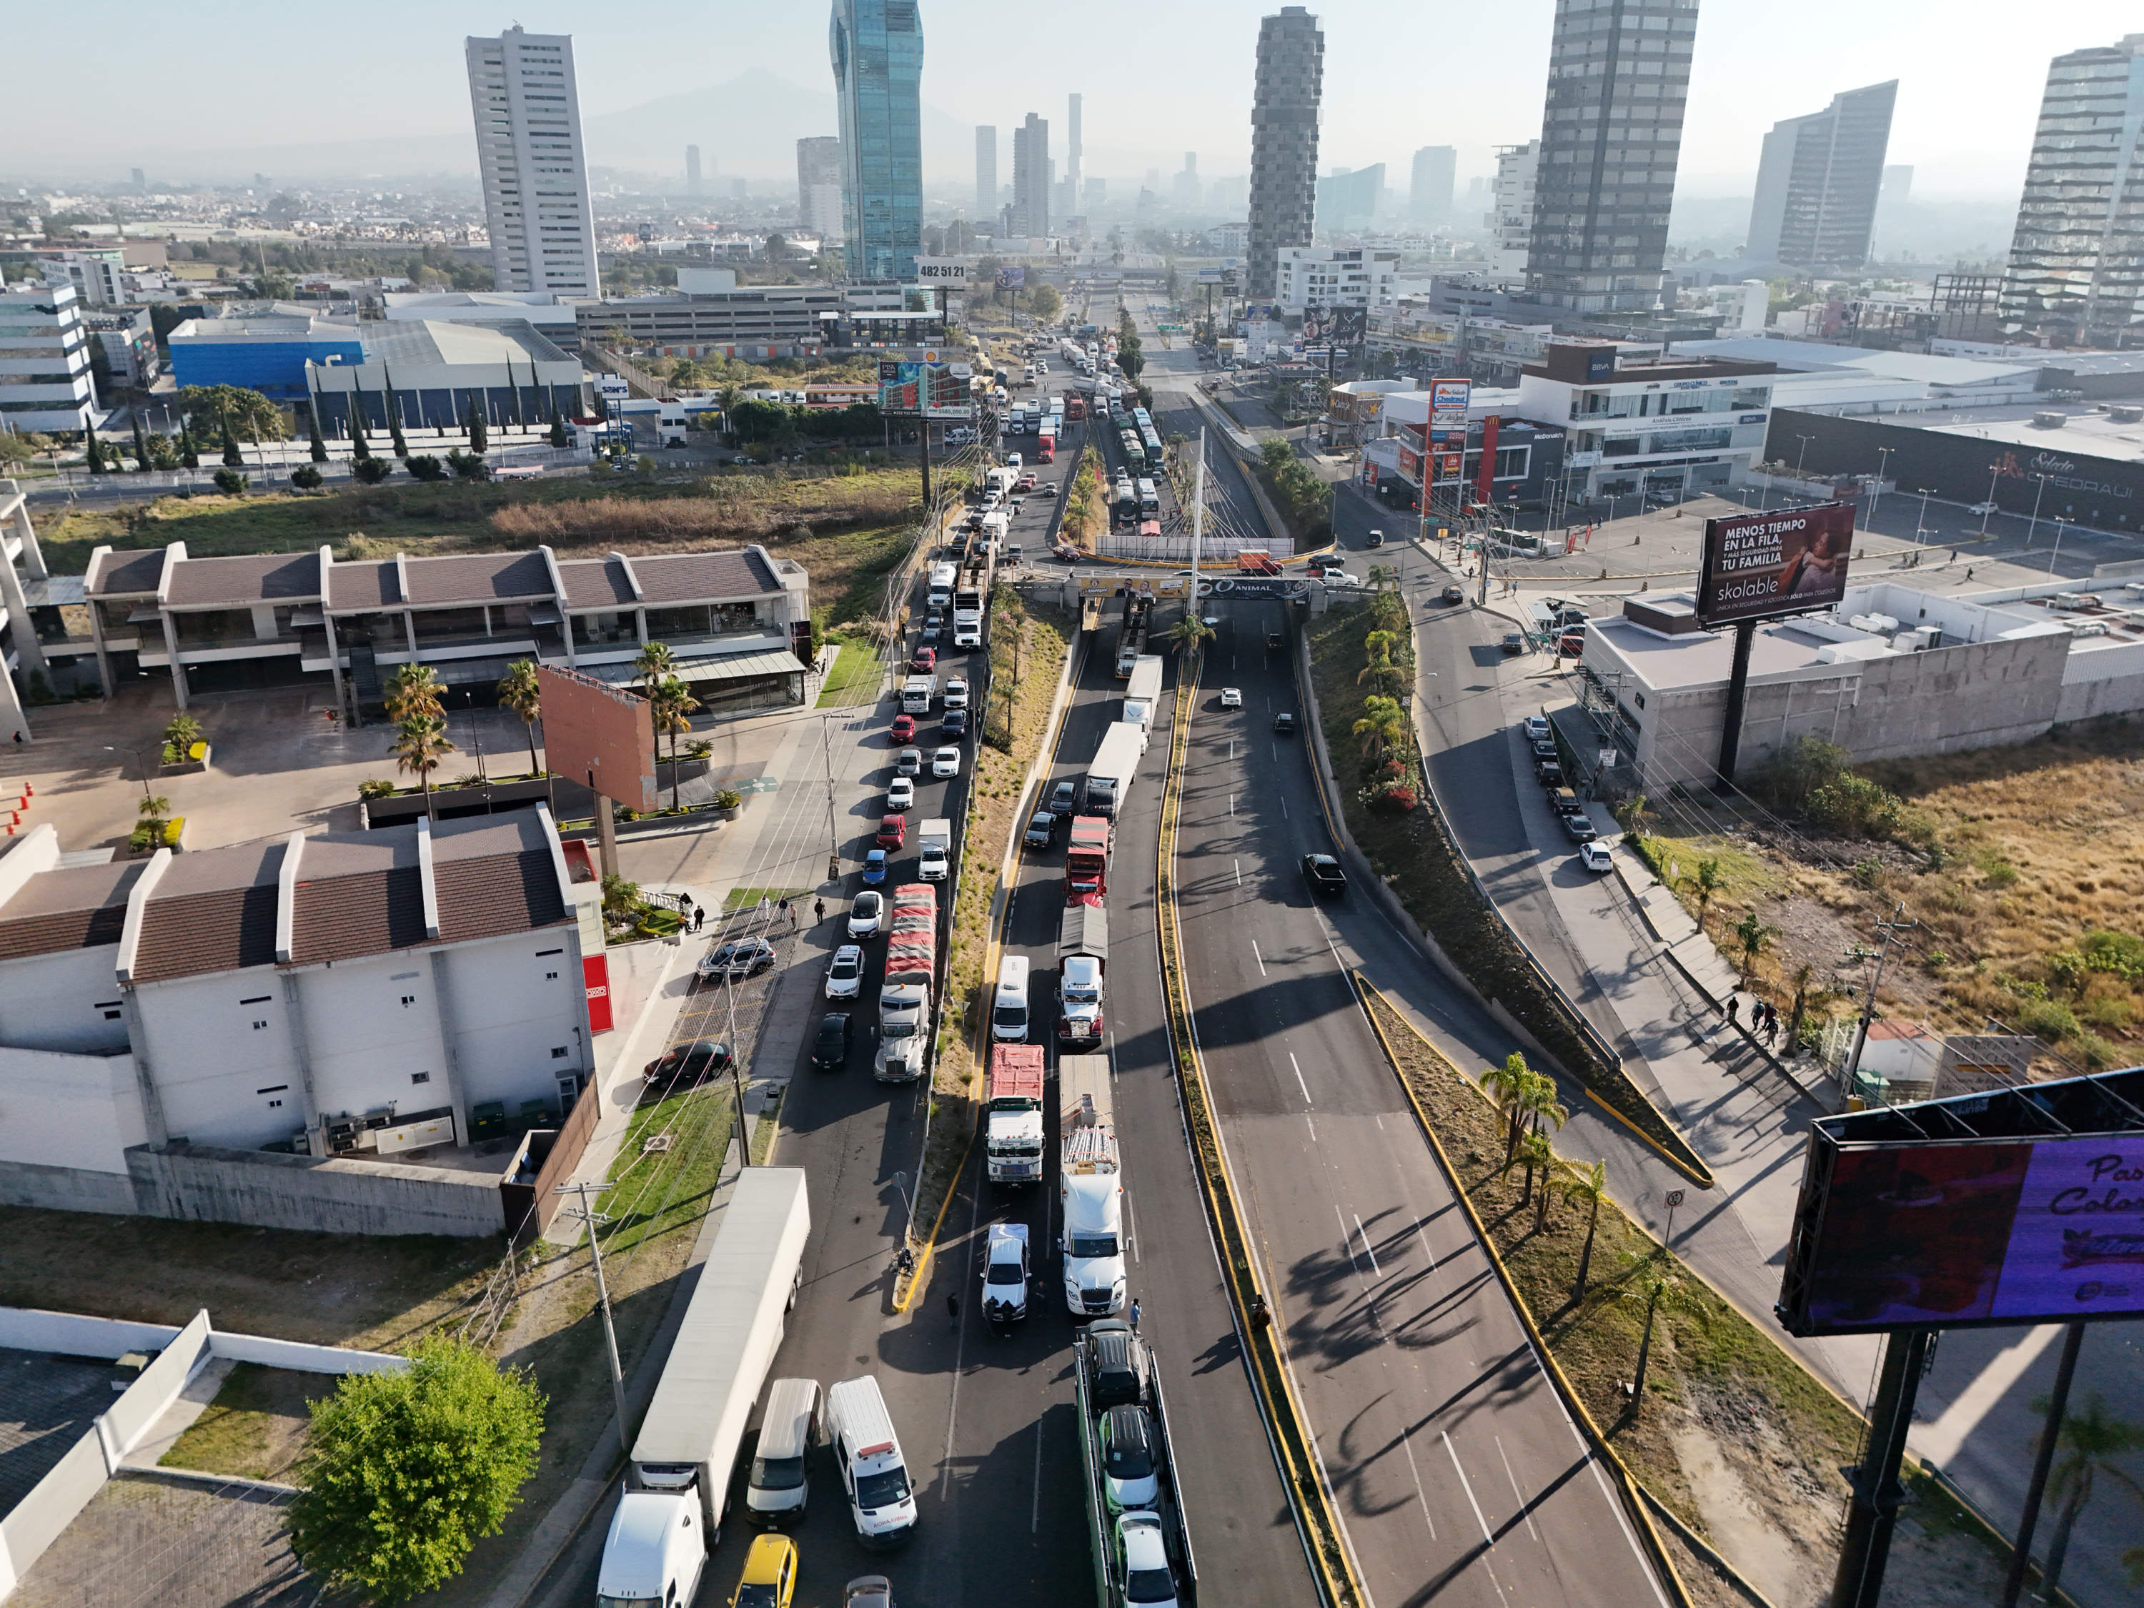
<svg viewBox="0 0 2144 1608"><path fill-rule="evenodd" d="M602 1542L598 1602L690 1602L699 1589L808 1237L804 1168L746 1168L632 1441L626 1492Z"/></svg>

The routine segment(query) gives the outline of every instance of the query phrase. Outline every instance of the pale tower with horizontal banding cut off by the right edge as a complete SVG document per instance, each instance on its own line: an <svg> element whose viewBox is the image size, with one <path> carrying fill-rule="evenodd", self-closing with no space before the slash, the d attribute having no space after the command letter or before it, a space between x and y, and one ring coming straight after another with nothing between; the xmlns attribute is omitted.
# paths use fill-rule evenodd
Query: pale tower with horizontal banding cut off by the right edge
<svg viewBox="0 0 2144 1608"><path fill-rule="evenodd" d="M2144 341L2144 34L2050 64L2000 317L2056 343Z"/></svg>

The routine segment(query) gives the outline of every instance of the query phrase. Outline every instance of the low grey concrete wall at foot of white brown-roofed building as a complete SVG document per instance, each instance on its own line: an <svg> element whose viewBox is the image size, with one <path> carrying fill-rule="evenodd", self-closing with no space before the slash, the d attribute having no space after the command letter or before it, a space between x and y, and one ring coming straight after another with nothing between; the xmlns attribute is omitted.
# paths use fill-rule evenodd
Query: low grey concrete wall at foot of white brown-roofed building
<svg viewBox="0 0 2144 1608"><path fill-rule="evenodd" d="M504 1233L500 1179L392 1162L135 1145L126 1151L135 1209L189 1222L247 1222L343 1235Z"/></svg>

